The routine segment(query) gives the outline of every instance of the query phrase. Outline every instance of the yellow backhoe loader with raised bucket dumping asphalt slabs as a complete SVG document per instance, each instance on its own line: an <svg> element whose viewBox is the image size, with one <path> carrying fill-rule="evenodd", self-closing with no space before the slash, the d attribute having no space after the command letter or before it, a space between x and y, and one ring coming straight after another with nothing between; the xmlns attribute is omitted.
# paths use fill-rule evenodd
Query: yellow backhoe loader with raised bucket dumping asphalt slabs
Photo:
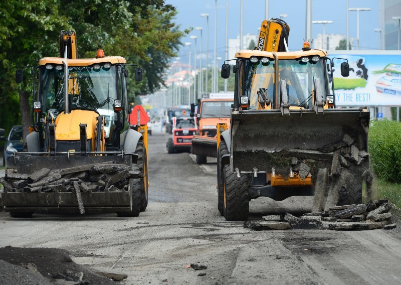
<svg viewBox="0 0 401 285"><path fill-rule="evenodd" d="M308 42L289 52L289 30L263 21L256 49L236 54L231 126L217 127L218 209L227 220L247 219L261 196L315 195L315 211L361 202L369 111L336 108L333 61ZM226 62L222 77L230 71Z"/></svg>

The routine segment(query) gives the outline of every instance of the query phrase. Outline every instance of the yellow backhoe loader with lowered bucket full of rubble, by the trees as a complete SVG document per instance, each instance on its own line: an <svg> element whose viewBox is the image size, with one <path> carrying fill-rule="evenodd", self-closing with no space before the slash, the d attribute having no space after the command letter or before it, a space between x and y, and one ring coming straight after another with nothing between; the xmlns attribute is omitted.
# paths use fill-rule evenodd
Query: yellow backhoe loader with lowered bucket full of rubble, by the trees
<svg viewBox="0 0 401 285"><path fill-rule="evenodd" d="M33 127L27 152L6 162L3 204L12 217L34 212L117 212L147 206L147 126L130 121L127 66L120 56L77 58L74 31L60 33L60 57L34 68ZM22 82L18 70L16 81Z"/></svg>

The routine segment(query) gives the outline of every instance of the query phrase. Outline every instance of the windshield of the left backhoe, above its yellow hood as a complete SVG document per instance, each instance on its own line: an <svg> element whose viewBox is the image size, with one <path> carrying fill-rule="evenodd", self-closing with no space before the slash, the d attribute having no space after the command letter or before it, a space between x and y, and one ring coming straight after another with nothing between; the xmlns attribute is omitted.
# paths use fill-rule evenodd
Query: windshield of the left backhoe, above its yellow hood
<svg viewBox="0 0 401 285"><path fill-rule="evenodd" d="M99 66L99 65L97 65ZM88 66L69 67L70 109L112 109L116 99L116 67L94 69ZM43 110L64 110L64 69L42 67L41 98Z"/></svg>

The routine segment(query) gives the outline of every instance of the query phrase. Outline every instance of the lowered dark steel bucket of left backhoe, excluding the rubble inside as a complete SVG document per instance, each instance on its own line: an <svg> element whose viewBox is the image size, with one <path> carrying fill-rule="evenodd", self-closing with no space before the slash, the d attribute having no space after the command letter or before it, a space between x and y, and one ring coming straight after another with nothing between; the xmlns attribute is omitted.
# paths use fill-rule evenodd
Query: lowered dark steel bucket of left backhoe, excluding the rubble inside
<svg viewBox="0 0 401 285"><path fill-rule="evenodd" d="M31 156L17 155L7 158L6 173L31 175L48 168L55 170L72 169L89 165L125 165L131 167L132 157L128 156ZM51 175L52 172L49 174ZM7 177L7 176L6 176ZM45 179L45 178L44 178ZM51 184L51 183L49 183ZM73 212L79 213L77 194L74 191L36 191L7 189L4 187L3 204L8 212ZM86 213L125 212L132 207L132 189L121 191L80 192Z"/></svg>

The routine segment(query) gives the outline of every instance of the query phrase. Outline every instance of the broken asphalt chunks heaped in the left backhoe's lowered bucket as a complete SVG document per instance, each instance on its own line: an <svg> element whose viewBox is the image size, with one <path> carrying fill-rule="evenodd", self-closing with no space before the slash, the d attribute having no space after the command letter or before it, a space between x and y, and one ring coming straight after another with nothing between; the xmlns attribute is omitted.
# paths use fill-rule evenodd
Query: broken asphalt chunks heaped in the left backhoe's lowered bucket
<svg viewBox="0 0 401 285"><path fill-rule="evenodd" d="M42 168L30 175L6 173L0 183L8 192L127 191L130 178L140 178L138 166L92 164L65 169Z"/></svg>

